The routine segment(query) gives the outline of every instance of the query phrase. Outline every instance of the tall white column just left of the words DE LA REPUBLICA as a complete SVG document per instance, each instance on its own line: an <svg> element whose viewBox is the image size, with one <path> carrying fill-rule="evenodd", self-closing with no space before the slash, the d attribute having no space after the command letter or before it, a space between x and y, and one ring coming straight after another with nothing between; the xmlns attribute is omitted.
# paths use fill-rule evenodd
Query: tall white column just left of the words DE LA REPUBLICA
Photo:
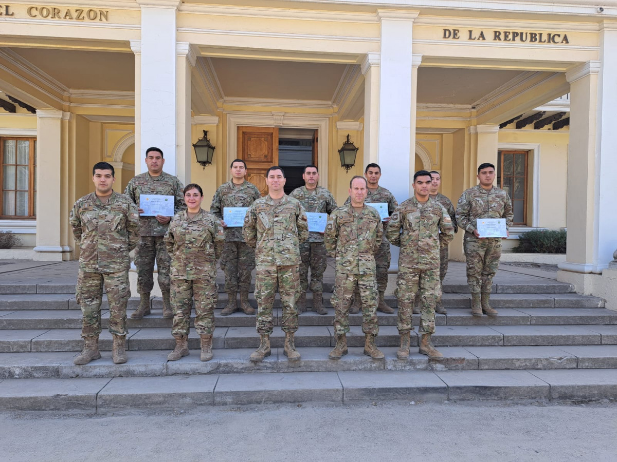
<svg viewBox="0 0 617 462"><path fill-rule="evenodd" d="M378 15L381 23L378 163L384 186L400 203L409 197L409 172L415 155L410 144L413 138L415 145L412 33L413 20L418 14L378 10Z"/></svg>

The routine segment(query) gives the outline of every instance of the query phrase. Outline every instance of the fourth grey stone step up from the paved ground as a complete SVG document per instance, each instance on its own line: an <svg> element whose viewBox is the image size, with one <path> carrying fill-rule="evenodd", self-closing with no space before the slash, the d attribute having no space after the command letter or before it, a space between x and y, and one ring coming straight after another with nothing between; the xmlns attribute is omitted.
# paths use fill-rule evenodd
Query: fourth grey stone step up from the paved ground
<svg viewBox="0 0 617 462"><path fill-rule="evenodd" d="M309 311L299 315L300 326L331 326L334 322L334 309L328 308L328 314L319 315ZM162 317L162 310L154 310L143 319L134 320L130 316L134 310L128 310L129 330L142 328L171 328L172 320ZM275 323L280 324L282 309L273 310ZM195 312L191 312L191 325ZM102 310L102 326L109 327L109 311ZM255 315L236 312L221 316L215 310L215 322L219 327L255 326ZM378 312L379 325L396 325L396 314ZM420 315L413 315L415 325L420 324ZM362 325L362 314L349 316L350 325ZM503 308L499 316L477 317L466 308L452 308L447 315L437 314L436 325L615 325L617 312L604 308ZM77 310L15 310L0 312L0 330L2 329L77 329L81 328L81 311Z"/></svg>

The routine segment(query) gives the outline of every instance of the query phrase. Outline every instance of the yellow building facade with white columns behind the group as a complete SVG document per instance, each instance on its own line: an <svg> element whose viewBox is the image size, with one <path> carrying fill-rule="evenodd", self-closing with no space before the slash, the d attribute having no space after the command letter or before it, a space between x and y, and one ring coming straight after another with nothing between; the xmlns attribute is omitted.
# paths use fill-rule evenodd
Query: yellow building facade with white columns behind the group
<svg viewBox="0 0 617 462"><path fill-rule="evenodd" d="M489 161L518 211L506 248L567 225L560 278L615 296L615 0L14 0L0 91L0 230L35 259L75 258L68 211L93 164L112 163L122 191L149 146L207 198L236 157L258 186L265 164L292 182L313 161L339 203L371 162L399 201L423 168L455 202Z"/></svg>

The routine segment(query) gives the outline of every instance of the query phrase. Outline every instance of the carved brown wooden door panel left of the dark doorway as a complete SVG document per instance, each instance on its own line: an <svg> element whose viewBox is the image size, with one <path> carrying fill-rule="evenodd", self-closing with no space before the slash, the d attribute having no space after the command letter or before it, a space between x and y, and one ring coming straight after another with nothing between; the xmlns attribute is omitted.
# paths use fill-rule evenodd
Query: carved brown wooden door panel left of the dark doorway
<svg viewBox="0 0 617 462"><path fill-rule="evenodd" d="M238 158L246 162L246 179L265 196L266 172L278 165L278 128L238 127Z"/></svg>

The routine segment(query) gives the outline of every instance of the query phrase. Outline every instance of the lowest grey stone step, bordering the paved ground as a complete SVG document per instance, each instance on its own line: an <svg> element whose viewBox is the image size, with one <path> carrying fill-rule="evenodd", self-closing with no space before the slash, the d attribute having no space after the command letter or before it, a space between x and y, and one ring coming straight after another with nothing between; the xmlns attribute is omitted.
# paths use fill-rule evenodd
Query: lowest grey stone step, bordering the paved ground
<svg viewBox="0 0 617 462"><path fill-rule="evenodd" d="M289 402L613 399L617 370L271 372L3 379L0 384L2 410L94 414Z"/></svg>

